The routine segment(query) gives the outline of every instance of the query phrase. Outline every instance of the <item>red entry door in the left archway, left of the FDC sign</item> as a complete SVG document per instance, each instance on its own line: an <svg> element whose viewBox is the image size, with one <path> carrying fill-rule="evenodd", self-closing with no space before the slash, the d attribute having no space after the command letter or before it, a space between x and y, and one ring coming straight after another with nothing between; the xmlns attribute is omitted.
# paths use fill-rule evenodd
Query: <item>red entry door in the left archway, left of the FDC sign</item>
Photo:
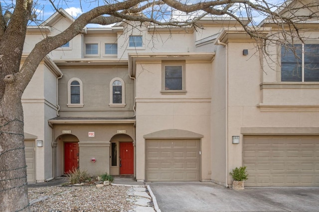
<svg viewBox="0 0 319 212"><path fill-rule="evenodd" d="M64 173L78 168L79 145L77 142L64 143Z"/></svg>

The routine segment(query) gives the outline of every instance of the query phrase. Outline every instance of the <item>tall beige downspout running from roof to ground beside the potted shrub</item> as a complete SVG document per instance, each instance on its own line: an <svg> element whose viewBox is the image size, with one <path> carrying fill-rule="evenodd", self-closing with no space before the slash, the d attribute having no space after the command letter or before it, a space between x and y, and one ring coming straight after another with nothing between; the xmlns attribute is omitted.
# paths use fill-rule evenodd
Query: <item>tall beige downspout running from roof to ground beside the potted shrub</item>
<svg viewBox="0 0 319 212"><path fill-rule="evenodd" d="M219 45L223 45L226 48L226 64L225 64L225 69L226 69L226 77L225 77L225 115L226 115L226 187L228 188L228 46L226 43L220 42L220 40L217 40L217 43Z"/></svg>

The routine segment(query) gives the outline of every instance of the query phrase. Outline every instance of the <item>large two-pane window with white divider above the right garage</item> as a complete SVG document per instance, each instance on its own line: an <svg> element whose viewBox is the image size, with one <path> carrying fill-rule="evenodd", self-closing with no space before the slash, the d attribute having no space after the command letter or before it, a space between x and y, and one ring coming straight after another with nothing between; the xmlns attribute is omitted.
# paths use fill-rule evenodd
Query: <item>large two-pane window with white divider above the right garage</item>
<svg viewBox="0 0 319 212"><path fill-rule="evenodd" d="M282 82L319 82L319 44L281 47Z"/></svg>

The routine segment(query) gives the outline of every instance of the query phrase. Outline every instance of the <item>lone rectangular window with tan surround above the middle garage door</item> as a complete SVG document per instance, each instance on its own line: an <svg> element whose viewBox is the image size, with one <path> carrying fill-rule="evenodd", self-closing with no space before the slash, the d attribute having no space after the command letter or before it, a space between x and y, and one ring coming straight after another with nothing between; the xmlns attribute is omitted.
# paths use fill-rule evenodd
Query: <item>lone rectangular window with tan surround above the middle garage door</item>
<svg viewBox="0 0 319 212"><path fill-rule="evenodd" d="M185 61L162 61L161 93L185 92Z"/></svg>

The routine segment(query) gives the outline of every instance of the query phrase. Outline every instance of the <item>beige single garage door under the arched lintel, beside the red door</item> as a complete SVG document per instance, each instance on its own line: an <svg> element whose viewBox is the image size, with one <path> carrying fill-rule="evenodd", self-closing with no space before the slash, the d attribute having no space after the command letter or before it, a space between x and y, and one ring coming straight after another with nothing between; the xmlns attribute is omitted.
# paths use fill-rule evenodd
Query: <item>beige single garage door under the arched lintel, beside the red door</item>
<svg viewBox="0 0 319 212"><path fill-rule="evenodd" d="M199 181L199 139L147 139L146 181Z"/></svg>

